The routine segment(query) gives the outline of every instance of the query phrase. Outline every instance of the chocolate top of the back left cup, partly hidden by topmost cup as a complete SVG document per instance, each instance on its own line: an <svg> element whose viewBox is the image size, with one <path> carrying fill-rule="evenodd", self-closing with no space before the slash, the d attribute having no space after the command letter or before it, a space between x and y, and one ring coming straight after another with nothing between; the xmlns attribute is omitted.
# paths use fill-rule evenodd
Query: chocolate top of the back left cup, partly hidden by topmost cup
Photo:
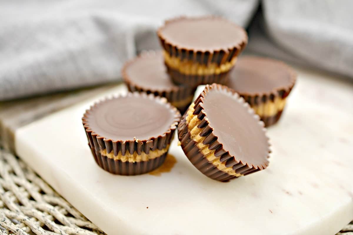
<svg viewBox="0 0 353 235"><path fill-rule="evenodd" d="M169 78L161 51L149 52L126 64L125 80L151 90L178 89Z"/></svg>

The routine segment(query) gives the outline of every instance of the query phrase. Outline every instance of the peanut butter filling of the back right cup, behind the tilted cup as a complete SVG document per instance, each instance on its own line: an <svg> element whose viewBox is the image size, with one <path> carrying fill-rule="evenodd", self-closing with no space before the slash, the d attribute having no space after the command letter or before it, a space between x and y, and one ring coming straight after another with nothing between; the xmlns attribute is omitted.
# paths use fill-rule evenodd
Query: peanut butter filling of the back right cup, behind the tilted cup
<svg viewBox="0 0 353 235"><path fill-rule="evenodd" d="M260 117L275 116L279 111L282 111L286 104L286 98L276 97L274 101L267 101L263 104L251 106L257 115Z"/></svg>

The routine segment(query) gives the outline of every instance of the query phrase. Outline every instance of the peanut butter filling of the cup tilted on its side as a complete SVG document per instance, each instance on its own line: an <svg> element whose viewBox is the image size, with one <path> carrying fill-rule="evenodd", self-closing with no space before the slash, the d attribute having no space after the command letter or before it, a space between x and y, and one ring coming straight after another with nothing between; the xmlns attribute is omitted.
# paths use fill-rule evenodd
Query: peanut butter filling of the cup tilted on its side
<svg viewBox="0 0 353 235"><path fill-rule="evenodd" d="M232 167L226 167L225 162L220 161L220 156L215 156L215 150L209 149L209 144L205 145L202 143L206 137L200 136L202 129L198 128L197 126L201 123L201 120L199 120L196 115L193 115L193 112L195 111L193 106L194 104L190 105L186 116L186 123L189 125L190 138L197 143L196 146L199 148L201 153L210 163L216 166L217 169L236 177L242 176L241 174L235 173L235 170L233 170Z"/></svg>

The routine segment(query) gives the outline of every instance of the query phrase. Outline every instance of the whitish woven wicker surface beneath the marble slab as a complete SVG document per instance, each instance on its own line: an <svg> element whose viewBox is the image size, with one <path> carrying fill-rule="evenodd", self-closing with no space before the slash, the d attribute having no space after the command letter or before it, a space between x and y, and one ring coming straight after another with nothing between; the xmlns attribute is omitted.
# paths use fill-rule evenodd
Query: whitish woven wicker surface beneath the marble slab
<svg viewBox="0 0 353 235"><path fill-rule="evenodd" d="M104 235L23 161L0 149L0 235ZM336 235L353 235L353 221Z"/></svg>

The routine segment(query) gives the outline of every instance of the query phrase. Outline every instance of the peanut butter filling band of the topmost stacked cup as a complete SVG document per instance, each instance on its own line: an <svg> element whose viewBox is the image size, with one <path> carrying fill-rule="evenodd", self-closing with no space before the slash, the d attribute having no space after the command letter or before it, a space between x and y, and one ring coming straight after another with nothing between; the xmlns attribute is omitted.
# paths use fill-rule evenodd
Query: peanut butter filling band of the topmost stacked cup
<svg viewBox="0 0 353 235"><path fill-rule="evenodd" d="M180 60L179 57L170 56L167 51L163 50L164 61L173 69L178 70L186 75L212 75L228 72L237 62L237 57L233 57L231 62L226 62L220 66L217 63L208 65L195 63L189 60Z"/></svg>

